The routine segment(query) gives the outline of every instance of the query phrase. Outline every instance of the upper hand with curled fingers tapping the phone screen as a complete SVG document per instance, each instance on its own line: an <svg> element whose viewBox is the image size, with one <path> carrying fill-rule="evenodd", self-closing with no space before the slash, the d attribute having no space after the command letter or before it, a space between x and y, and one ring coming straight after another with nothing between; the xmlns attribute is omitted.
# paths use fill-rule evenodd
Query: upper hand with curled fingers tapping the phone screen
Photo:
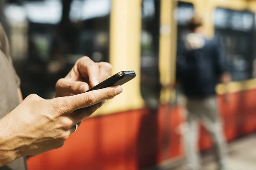
<svg viewBox="0 0 256 170"><path fill-rule="evenodd" d="M81 94L110 77L111 64L93 62L89 57L77 60L72 70L56 83L56 97Z"/></svg>

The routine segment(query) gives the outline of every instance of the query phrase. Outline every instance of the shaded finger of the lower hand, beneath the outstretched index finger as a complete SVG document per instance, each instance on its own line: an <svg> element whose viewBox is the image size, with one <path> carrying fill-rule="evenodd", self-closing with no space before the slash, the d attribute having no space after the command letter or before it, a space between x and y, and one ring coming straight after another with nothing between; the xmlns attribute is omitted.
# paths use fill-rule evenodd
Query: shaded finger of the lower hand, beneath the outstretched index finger
<svg viewBox="0 0 256 170"><path fill-rule="evenodd" d="M89 106L87 108L79 109L73 112L72 114L70 114L70 119L73 121L73 125L91 116L97 109L102 107L102 105L104 105L106 102L107 102L106 100L103 100L102 102L99 102L95 105Z"/></svg>

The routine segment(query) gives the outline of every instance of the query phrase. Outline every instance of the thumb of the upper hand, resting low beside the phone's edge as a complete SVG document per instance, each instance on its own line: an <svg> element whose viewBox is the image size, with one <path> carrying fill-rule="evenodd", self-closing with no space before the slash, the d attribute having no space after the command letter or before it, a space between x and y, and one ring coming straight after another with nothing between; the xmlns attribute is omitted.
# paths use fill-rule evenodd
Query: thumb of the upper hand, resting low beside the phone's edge
<svg viewBox="0 0 256 170"><path fill-rule="evenodd" d="M59 79L56 83L56 91L65 91L73 94L84 93L89 89L86 82L73 81L70 79Z"/></svg>

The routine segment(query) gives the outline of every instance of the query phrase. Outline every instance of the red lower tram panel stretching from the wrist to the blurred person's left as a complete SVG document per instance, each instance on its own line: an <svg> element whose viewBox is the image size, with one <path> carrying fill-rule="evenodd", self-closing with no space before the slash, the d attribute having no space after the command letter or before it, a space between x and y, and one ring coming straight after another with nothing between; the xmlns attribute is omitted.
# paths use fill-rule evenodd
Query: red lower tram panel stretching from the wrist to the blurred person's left
<svg viewBox="0 0 256 170"><path fill-rule="evenodd" d="M158 114L142 109L86 119L64 147L30 158L29 169L131 170L154 166L169 158L165 147L169 148L170 140L175 147L171 155L180 153L179 135L163 142L163 136L170 137L163 133L166 116L173 122L167 132L173 134L171 129L180 122L177 109L167 111L162 107ZM163 150L167 150L167 157L161 154Z"/></svg>

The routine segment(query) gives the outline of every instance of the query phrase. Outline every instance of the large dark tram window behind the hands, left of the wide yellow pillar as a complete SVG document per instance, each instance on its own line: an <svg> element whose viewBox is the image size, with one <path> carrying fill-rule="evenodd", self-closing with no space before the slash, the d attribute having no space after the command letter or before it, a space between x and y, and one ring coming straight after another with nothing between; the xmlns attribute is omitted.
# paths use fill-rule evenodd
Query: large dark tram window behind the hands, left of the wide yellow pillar
<svg viewBox="0 0 256 170"><path fill-rule="evenodd" d="M13 42L22 35L25 38L17 42L28 48L19 60L13 56L23 97L32 93L43 98L53 96L56 81L70 71L79 57L109 62L111 0L20 2L6 3L5 13L12 21L11 37L16 37ZM17 20L23 16L21 13L23 20ZM18 50L18 45L12 48Z"/></svg>

